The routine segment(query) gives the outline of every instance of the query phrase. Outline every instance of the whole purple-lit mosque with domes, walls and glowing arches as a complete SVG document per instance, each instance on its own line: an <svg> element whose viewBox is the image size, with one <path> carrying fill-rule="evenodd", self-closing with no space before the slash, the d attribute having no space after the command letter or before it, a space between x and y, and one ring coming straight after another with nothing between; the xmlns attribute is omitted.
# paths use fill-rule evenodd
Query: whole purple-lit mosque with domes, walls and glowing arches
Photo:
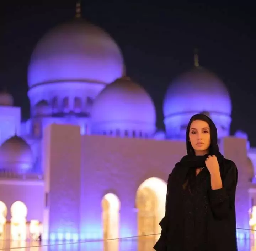
<svg viewBox="0 0 256 251"><path fill-rule="evenodd" d="M171 76L170 76L171 77ZM149 94L126 76L122 52L80 17L50 30L28 66L31 116L0 93L0 238L111 239L155 234L166 181L186 154L194 113L217 125L220 150L238 166L238 235L254 228L256 149L230 135L231 99L214 73L195 66L163 97L165 132Z"/></svg>

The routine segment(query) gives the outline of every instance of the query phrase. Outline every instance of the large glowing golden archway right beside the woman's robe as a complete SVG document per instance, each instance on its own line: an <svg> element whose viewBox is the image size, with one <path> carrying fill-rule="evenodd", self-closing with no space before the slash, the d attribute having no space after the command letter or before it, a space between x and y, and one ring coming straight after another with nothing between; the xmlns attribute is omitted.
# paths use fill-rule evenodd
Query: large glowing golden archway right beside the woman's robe
<svg viewBox="0 0 256 251"><path fill-rule="evenodd" d="M156 177L145 180L136 194L138 209L138 236L155 235L161 232L159 222L165 214L167 183ZM156 239L159 236L156 235Z"/></svg>

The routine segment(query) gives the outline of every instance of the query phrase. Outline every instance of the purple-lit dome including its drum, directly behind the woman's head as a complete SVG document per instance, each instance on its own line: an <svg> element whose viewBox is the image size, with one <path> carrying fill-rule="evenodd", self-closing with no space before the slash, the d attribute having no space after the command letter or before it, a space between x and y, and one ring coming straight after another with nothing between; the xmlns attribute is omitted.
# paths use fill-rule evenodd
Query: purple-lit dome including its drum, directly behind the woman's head
<svg viewBox="0 0 256 251"><path fill-rule="evenodd" d="M178 76L170 85L164 99L164 123L167 138L185 139L188 121L195 113L210 116L218 136L229 136L231 98L221 79L197 65Z"/></svg>

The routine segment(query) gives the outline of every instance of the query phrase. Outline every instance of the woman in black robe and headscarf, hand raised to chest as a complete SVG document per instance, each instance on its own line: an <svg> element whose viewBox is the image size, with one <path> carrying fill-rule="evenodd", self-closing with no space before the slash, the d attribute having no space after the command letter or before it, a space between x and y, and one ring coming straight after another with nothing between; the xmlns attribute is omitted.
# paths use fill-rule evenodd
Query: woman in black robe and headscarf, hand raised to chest
<svg viewBox="0 0 256 251"><path fill-rule="evenodd" d="M219 152L217 128L196 114L186 132L187 155L167 183L156 251L237 251L236 165Z"/></svg>

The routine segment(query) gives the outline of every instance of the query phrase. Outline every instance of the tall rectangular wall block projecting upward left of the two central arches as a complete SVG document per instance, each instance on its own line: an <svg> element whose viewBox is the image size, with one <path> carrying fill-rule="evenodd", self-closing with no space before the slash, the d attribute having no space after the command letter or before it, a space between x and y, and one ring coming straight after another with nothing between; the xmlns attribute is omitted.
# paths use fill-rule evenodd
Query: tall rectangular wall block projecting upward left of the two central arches
<svg viewBox="0 0 256 251"><path fill-rule="evenodd" d="M47 127L42 142L42 160L46 196L44 238L60 238L67 234L74 238L80 229L80 128L57 124Z"/></svg>

